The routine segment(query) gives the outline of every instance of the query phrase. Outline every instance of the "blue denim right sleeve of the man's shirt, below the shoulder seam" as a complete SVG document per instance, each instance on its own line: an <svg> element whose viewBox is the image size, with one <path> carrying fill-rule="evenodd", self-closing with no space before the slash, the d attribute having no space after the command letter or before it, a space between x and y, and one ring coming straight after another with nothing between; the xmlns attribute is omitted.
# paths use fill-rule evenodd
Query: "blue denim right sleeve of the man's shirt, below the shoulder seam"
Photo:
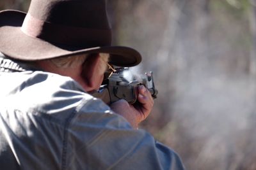
<svg viewBox="0 0 256 170"><path fill-rule="evenodd" d="M102 101L82 105L67 126L63 169L184 169L177 153L132 129Z"/></svg>

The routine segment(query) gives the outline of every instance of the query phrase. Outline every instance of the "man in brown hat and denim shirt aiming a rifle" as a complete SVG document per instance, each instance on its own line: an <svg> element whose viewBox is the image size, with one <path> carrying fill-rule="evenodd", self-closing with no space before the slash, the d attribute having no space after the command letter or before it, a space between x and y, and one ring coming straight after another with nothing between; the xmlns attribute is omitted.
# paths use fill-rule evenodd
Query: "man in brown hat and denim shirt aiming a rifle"
<svg viewBox="0 0 256 170"><path fill-rule="evenodd" d="M90 95L107 65L136 66L140 53L111 46L104 0L32 0L0 13L1 169L184 169L138 124L153 100L107 106Z"/></svg>

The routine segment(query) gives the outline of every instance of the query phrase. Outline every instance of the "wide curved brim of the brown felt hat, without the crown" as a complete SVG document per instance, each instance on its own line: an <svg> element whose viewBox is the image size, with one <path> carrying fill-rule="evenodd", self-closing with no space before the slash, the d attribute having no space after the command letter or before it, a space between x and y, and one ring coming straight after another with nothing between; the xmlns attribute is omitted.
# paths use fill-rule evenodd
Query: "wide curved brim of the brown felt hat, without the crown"
<svg viewBox="0 0 256 170"><path fill-rule="evenodd" d="M82 48L49 43L21 31L26 13L16 10L0 12L0 52L18 60L44 60L83 53L109 53L109 63L131 67L141 62L141 55L126 46L95 46Z"/></svg>

